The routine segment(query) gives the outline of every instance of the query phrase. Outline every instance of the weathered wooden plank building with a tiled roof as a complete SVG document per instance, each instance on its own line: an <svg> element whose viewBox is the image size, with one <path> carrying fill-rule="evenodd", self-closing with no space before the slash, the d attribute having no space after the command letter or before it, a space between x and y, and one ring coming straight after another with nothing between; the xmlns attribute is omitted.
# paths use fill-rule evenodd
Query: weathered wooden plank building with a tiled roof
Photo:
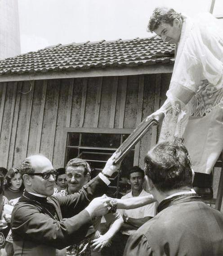
<svg viewBox="0 0 223 256"><path fill-rule="evenodd" d="M95 169L165 101L174 46L157 37L72 43L0 61L0 166L41 153L55 168L73 157ZM143 166L152 128L129 153Z"/></svg>

